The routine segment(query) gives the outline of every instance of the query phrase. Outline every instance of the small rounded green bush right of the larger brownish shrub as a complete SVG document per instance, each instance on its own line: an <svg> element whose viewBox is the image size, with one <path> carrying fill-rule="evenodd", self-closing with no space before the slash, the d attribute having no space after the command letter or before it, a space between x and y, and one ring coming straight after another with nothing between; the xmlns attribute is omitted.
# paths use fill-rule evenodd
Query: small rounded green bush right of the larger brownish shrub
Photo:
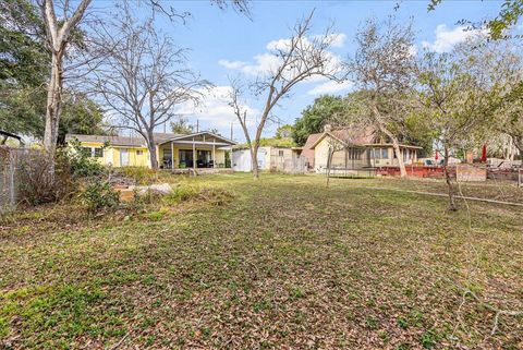
<svg viewBox="0 0 523 350"><path fill-rule="evenodd" d="M120 204L120 194L109 182L101 181L90 183L80 198L90 214L113 209Z"/></svg>

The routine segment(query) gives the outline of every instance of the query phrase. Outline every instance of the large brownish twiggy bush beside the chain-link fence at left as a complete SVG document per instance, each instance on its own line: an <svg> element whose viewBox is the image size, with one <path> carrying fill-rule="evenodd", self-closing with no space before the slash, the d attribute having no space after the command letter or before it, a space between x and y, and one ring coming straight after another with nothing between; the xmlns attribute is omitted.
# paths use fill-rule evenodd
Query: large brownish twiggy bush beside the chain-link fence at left
<svg viewBox="0 0 523 350"><path fill-rule="evenodd" d="M17 180L21 201L31 205L58 202L72 195L76 188L69 158L61 150L54 161L41 152L29 154L20 164Z"/></svg>

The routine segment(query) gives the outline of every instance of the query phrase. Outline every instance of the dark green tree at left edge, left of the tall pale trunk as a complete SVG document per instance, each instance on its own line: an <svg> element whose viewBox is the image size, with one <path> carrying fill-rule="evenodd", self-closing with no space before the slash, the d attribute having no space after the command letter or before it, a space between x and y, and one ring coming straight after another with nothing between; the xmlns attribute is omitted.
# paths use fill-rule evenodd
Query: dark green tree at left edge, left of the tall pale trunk
<svg viewBox="0 0 523 350"><path fill-rule="evenodd" d="M42 23L27 0L0 2L0 129L39 136L50 62Z"/></svg>

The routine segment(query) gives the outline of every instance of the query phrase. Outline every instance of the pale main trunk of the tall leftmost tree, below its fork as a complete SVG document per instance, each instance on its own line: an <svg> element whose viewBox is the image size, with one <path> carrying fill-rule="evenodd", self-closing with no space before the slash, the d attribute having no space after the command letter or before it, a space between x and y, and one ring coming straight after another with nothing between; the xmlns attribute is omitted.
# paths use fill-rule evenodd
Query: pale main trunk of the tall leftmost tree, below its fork
<svg viewBox="0 0 523 350"><path fill-rule="evenodd" d="M60 122L61 100L62 100L62 56L63 50L52 52L51 79L47 88L46 106L46 131L44 134L44 148L47 155L53 159L57 149L58 125ZM53 171L54 167L51 167Z"/></svg>

